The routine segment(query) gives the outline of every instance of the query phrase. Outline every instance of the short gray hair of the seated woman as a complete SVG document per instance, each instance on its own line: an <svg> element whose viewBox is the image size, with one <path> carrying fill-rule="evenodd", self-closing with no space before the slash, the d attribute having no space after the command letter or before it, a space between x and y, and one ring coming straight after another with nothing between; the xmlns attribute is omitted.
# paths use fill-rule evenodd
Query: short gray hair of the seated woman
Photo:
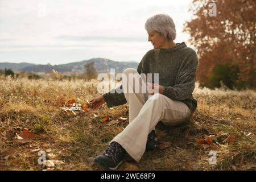
<svg viewBox="0 0 256 182"><path fill-rule="evenodd" d="M167 14L156 14L148 18L145 23L145 29L146 31L159 32L162 36L167 36L168 32L167 39L169 40L176 38L174 20Z"/></svg>

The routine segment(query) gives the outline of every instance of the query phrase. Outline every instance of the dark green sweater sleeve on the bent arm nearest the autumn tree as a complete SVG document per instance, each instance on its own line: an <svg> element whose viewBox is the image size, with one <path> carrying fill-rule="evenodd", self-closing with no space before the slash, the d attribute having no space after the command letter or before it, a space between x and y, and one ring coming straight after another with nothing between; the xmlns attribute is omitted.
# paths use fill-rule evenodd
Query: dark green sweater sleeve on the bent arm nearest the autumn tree
<svg viewBox="0 0 256 182"><path fill-rule="evenodd" d="M174 86L164 86L163 95L177 101L183 101L191 97L195 89L197 66L198 57L196 52L192 52L181 68L176 84Z"/></svg>

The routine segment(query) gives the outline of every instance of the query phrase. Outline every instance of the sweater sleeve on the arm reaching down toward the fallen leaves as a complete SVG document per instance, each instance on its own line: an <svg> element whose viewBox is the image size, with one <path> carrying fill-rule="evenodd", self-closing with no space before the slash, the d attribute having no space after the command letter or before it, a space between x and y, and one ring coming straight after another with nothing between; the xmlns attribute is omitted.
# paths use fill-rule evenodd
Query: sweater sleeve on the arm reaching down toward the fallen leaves
<svg viewBox="0 0 256 182"><path fill-rule="evenodd" d="M143 61L143 59L142 59L142 61ZM138 68L137 68L137 72L139 74L141 74L142 61L141 61L141 63L139 63ZM117 92L117 90L118 90L118 92ZM127 102L126 98L125 98L125 94L123 94L123 86L122 85L118 86L115 89L110 90L108 93L103 94L103 97L105 98L106 105L108 107L123 105Z"/></svg>

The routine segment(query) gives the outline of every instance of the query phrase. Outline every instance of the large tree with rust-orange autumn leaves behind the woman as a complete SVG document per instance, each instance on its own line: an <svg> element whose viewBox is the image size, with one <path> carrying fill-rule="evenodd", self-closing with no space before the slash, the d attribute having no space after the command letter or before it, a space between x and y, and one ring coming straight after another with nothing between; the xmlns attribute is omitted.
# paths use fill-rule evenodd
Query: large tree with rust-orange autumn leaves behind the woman
<svg viewBox="0 0 256 182"><path fill-rule="evenodd" d="M191 11L195 17L184 24L183 31L191 35L189 42L199 55L200 85L208 86L220 65L230 73L229 65L236 68L231 70L237 75L235 86L255 88L256 1L193 0Z"/></svg>

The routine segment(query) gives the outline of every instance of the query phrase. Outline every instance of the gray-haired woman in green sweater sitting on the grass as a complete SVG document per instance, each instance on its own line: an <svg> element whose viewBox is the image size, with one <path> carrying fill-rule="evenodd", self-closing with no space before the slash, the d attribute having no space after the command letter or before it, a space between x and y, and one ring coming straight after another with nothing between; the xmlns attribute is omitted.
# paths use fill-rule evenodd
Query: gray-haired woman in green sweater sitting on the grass
<svg viewBox="0 0 256 182"><path fill-rule="evenodd" d="M144 55L137 70L127 68L123 75L128 78L134 74L136 80L141 78L141 73L159 73L159 84L151 84L159 92L148 97L148 93L110 91L90 101L94 108L105 102L108 107L129 104L129 125L94 159L112 170L123 162L125 154L139 162L145 150L155 148L155 126L159 121L168 126L179 125L189 119L197 106L192 96L198 65L196 52L184 42L174 43L175 24L166 14L147 19L145 28L154 49ZM133 81L122 79L122 85L115 90L133 87Z"/></svg>

